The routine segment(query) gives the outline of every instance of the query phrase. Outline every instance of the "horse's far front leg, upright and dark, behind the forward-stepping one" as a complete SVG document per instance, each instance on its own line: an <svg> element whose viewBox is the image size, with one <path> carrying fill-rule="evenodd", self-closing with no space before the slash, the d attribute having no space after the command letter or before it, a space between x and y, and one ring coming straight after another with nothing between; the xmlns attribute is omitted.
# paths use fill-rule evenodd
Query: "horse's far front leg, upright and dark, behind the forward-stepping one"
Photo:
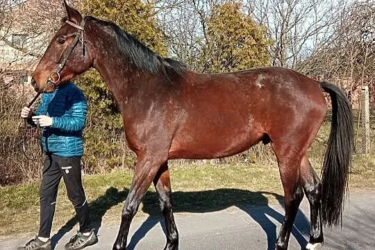
<svg viewBox="0 0 375 250"><path fill-rule="evenodd" d="M178 231L172 211L172 190L167 162L160 167L153 184L165 219L167 244L165 244L164 250L176 250L178 249Z"/></svg>

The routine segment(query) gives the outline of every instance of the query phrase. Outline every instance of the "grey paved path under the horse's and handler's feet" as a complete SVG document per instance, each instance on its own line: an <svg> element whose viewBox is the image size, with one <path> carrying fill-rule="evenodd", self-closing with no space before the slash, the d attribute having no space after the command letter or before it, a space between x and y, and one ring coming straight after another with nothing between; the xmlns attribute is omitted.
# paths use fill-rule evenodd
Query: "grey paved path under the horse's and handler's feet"
<svg viewBox="0 0 375 250"><path fill-rule="evenodd" d="M230 207L213 213L176 213L176 224L180 233L180 250L215 249L272 249L283 219L283 207L245 206ZM309 208L306 198L301 203L297 222L292 231L289 249L301 249L307 244L309 231ZM352 193L344 211L342 229L324 229L324 249L375 249L375 191L366 194ZM99 228L98 244L90 250L112 249L118 225L103 225ZM75 232L53 236L55 249L64 249L64 244ZM0 238L0 249L15 249L31 235L17 239ZM138 218L131 226L128 249L163 249L165 236L160 219Z"/></svg>

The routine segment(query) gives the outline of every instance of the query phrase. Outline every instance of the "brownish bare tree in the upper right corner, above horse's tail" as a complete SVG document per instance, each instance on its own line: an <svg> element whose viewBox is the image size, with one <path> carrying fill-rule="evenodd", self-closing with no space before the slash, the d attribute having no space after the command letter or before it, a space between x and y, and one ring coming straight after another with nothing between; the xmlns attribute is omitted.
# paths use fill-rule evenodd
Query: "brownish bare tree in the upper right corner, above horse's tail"
<svg viewBox="0 0 375 250"><path fill-rule="evenodd" d="M369 86L374 106L375 3L354 2L338 13L331 39L301 63L303 72L324 75L343 88L355 107L362 86Z"/></svg>

